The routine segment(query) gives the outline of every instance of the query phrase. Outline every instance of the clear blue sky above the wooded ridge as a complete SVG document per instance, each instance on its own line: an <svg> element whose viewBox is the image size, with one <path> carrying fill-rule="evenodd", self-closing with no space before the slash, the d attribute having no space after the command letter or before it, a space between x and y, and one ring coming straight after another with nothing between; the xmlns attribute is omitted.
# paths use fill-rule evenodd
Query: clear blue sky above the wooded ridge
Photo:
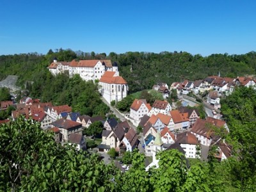
<svg viewBox="0 0 256 192"><path fill-rule="evenodd" d="M256 1L1 0L0 55L256 51Z"/></svg>

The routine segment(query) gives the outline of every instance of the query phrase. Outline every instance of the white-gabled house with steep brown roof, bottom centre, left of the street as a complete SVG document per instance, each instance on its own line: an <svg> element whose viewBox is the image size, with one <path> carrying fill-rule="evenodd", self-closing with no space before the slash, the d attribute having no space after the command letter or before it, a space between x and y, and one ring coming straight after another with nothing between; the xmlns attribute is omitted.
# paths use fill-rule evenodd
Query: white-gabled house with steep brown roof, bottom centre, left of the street
<svg viewBox="0 0 256 192"><path fill-rule="evenodd" d="M138 143L138 135L136 134L136 131L130 127L128 132L124 134L124 138L120 143L120 150L132 152L132 150L138 146Z"/></svg>

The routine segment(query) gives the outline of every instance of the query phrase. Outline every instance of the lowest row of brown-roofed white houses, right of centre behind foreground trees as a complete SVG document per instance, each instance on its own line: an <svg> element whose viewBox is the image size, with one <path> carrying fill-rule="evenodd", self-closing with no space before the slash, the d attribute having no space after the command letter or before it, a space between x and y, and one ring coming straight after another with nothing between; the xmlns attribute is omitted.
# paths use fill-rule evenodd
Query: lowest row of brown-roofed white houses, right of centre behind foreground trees
<svg viewBox="0 0 256 192"><path fill-rule="evenodd" d="M153 156L154 159L157 151L166 150L174 144L179 144L187 158L198 158L201 156L201 148L204 145L205 147L216 146L215 156L219 161L223 161L231 156L232 148L215 134L214 129L221 129L221 127L228 134L227 124L211 117L207 117L205 120L199 118L190 131L179 134L171 132L168 127L157 131L154 126L145 125L143 127L145 155Z"/></svg>

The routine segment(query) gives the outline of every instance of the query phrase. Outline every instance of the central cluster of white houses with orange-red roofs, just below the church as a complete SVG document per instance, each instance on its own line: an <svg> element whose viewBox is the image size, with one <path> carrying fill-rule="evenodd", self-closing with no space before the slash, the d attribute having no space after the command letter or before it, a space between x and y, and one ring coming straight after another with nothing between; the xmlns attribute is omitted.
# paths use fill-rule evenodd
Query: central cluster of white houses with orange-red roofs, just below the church
<svg viewBox="0 0 256 192"><path fill-rule="evenodd" d="M172 106L166 100L155 100L151 107L145 99L135 99L130 108L129 118L135 125L147 119L158 131L164 129L164 126L170 131L180 131L192 127L199 118L199 113L197 109L191 108L172 110Z"/></svg>

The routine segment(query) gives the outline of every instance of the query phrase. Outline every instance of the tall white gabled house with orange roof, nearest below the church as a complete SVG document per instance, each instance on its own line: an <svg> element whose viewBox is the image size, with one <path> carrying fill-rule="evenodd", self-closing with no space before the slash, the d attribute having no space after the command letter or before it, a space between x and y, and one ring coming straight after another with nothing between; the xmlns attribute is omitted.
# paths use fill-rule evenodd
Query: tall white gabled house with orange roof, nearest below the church
<svg viewBox="0 0 256 192"><path fill-rule="evenodd" d="M151 106L145 99L134 99L130 108L130 118L138 122L144 115L148 115L150 109Z"/></svg>

